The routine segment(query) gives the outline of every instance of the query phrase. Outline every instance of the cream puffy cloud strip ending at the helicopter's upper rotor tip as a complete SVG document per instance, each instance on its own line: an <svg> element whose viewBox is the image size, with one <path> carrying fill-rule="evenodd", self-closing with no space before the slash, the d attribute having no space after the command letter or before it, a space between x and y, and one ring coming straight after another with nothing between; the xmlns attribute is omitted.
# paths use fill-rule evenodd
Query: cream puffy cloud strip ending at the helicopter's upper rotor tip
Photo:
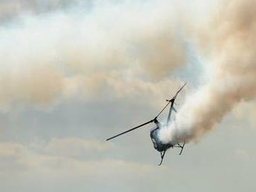
<svg viewBox="0 0 256 192"><path fill-rule="evenodd" d="M114 99L148 103L155 107L171 97L171 93L182 84L180 81L164 79L162 81L141 81L137 77L129 77L126 72L95 74L89 77L77 76L67 80L67 97L84 98L88 101ZM154 102L149 102L154 101Z"/></svg>

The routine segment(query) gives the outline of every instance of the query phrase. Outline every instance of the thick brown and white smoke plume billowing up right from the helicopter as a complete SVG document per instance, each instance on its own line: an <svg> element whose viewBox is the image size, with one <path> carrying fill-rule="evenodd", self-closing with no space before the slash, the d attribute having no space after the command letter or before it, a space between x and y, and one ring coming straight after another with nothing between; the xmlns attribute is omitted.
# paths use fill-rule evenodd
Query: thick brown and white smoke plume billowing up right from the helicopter
<svg viewBox="0 0 256 192"><path fill-rule="evenodd" d="M189 94L175 123L161 132L163 139L189 142L213 129L240 101L256 98L255 7L254 0L225 1L207 21L203 49L209 50L209 78Z"/></svg>

